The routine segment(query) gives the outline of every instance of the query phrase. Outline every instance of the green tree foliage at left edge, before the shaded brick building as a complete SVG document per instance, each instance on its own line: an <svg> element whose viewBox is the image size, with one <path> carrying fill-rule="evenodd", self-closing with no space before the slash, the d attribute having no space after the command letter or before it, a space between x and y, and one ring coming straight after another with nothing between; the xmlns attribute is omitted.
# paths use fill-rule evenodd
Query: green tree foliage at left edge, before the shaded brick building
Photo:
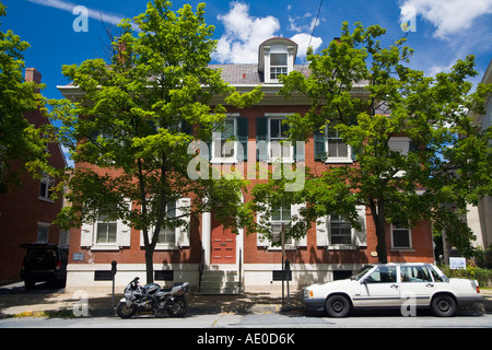
<svg viewBox="0 0 492 350"><path fill-rule="evenodd" d="M5 9L0 2L0 18L7 14ZM24 170L33 175L48 170L48 130L36 129L24 116L43 106L37 93L43 85L23 78L23 52L28 47L12 31L0 31L0 192L19 186Z"/></svg>

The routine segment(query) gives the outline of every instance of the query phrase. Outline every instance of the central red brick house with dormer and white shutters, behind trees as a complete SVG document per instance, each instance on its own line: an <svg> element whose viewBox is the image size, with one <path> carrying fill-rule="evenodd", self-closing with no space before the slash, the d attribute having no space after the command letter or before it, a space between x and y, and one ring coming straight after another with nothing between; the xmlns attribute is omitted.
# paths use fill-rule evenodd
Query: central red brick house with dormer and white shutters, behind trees
<svg viewBox="0 0 492 350"><path fill-rule="evenodd" d="M265 92L263 100L254 107L229 109L224 133L227 137L236 136L234 149L221 154L225 138L220 136L215 136L211 144L211 163L214 166L236 164L244 170L251 188L260 179L251 179L246 172L248 164L256 166L257 161L266 166L278 158L291 162L303 161L317 173L329 166L354 163L350 147L333 133L312 137L304 150L273 147L274 141L285 138L281 120L291 114L305 114L309 109L309 101L304 96L285 100L277 94L282 88L278 81L280 74L288 74L292 70L308 73L306 67L294 66L297 45L294 42L271 38L260 45L258 65L211 66L221 69L224 81L239 92L248 92L259 84ZM353 89L362 92L363 86L355 85ZM59 90L68 98L80 93L72 85L59 86ZM407 138L391 141L397 149L408 151ZM265 149L257 153L260 143ZM245 150L244 159L238 156L239 144ZM327 159L321 156L328 151L330 155ZM189 200L183 198L177 201L176 211ZM250 195L247 194L244 200L250 200ZM300 206L278 208L271 218L272 225L279 228L298 209ZM291 288L347 277L367 262L377 262L374 223L365 208L359 208L359 212L363 226L361 232L351 228L343 218L331 215L321 218L306 237L288 242ZM70 238L67 282L70 289L87 285L108 289L110 282L98 281L104 275L98 271L109 270L112 260L118 262L118 285L125 285L136 276L145 276L141 233L122 222L103 220L72 229ZM272 247L270 242L261 240L258 234L245 235L242 231L238 235L232 234L214 220L213 213L192 217L187 228L163 232L161 242L165 243L157 244L154 253L157 281L188 280L195 287L201 282L202 292L237 292L239 284L246 291L281 288L281 281L274 278L278 273L273 272L281 270L280 248ZM426 222L412 229L388 225L387 246L389 261L434 261L431 226Z"/></svg>

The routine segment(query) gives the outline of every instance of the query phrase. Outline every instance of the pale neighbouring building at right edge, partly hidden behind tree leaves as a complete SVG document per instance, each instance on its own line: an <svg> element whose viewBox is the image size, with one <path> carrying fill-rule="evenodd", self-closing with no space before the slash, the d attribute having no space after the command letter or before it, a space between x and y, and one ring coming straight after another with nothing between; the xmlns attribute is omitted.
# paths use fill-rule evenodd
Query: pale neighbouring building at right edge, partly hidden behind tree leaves
<svg viewBox="0 0 492 350"><path fill-rule="evenodd" d="M483 74L482 84L492 84L492 60ZM484 131L492 126L492 94L485 100L485 114L477 115L470 113L469 116L479 126L480 131ZM492 147L492 144L490 144ZM467 222L468 226L477 236L476 246L483 249L492 246L492 197L485 196L478 206L468 206Z"/></svg>

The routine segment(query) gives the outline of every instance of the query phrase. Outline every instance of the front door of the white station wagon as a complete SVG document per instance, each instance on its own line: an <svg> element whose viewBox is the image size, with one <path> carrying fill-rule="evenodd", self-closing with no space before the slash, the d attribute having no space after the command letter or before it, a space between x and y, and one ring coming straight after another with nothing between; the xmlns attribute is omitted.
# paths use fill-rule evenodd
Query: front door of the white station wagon
<svg viewBox="0 0 492 350"><path fill-rule="evenodd" d="M379 266L361 283L360 306L400 306L397 266Z"/></svg>

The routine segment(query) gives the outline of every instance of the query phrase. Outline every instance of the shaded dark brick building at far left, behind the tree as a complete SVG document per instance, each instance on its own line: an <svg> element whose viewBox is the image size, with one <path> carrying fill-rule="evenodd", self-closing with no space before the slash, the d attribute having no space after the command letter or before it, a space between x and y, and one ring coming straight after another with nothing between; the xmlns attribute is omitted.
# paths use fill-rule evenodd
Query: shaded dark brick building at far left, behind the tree
<svg viewBox="0 0 492 350"><path fill-rule="evenodd" d="M25 69L25 80L40 83L42 75L35 68ZM25 113L25 118L34 126L49 124L39 110ZM49 143L49 164L65 167L65 155L58 143ZM62 199L51 199L51 188L56 179L44 176L33 179L22 176L19 188L0 195L0 282L20 280L25 249L21 244L43 242L68 244L68 236L52 224L62 207ZM67 233L68 234L68 233Z"/></svg>

